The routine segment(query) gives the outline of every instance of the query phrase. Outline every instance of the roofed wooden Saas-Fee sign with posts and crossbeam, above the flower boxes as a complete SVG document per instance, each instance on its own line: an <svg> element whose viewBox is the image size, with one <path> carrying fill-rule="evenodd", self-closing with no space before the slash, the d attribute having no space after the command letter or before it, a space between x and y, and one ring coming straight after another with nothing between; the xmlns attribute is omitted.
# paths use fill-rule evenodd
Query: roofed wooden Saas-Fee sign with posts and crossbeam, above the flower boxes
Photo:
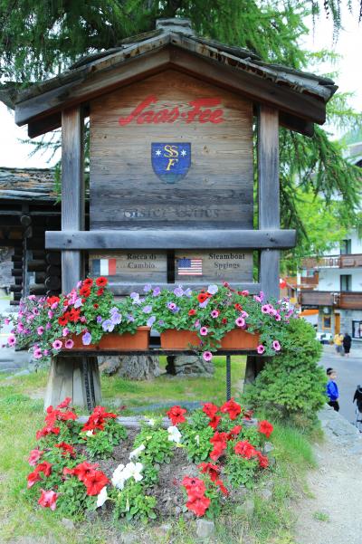
<svg viewBox="0 0 362 544"><path fill-rule="evenodd" d="M62 230L46 234L46 247L62 251L63 291L86 267L119 295L146 282L225 280L278 298L279 253L295 244L295 232L280 228L279 125L312 135L335 90L329 79L198 37L176 18L23 91L15 121L30 137L62 127Z"/></svg>

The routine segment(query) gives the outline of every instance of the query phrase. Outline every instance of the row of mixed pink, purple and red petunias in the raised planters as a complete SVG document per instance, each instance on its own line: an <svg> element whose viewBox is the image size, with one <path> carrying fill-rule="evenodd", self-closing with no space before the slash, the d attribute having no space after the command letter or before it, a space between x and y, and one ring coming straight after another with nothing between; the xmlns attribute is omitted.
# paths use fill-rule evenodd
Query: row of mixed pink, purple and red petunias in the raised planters
<svg viewBox="0 0 362 544"><path fill-rule="evenodd" d="M252 296L248 291L233 290L225 282L201 291L184 290L180 285L173 291L146 285L142 295L132 292L116 301L107 289L106 278L87 278L67 295L40 299L32 295L21 301L18 314L12 318L14 329L8 344L30 347L33 358L42 359L73 348L74 335L81 336L83 346L97 346L111 332L134 335L146 326L161 334L190 331L195 345L187 348L210 360L213 352L223 347L223 339L239 329L248 336L258 336L259 343L253 347L259 354L273 355L287 341L285 325L293 317L287 300L268 303L262 292ZM124 345L132 349L129 337ZM234 348L250 345L241 340Z"/></svg>

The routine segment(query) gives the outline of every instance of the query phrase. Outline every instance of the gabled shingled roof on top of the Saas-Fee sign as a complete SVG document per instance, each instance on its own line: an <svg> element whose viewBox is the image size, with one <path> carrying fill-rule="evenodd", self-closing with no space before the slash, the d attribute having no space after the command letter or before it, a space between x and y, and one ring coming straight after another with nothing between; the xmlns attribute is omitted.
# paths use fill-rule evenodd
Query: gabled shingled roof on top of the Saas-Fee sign
<svg viewBox="0 0 362 544"><path fill-rule="evenodd" d="M104 92L167 68L270 104L280 110L281 124L305 134L312 132L312 123L324 122L325 105L337 90L329 78L263 62L242 47L196 36L187 19L175 18L158 20L155 31L81 58L57 77L0 100L14 106L16 123L28 123L34 137L60 127L64 108L87 106Z"/></svg>

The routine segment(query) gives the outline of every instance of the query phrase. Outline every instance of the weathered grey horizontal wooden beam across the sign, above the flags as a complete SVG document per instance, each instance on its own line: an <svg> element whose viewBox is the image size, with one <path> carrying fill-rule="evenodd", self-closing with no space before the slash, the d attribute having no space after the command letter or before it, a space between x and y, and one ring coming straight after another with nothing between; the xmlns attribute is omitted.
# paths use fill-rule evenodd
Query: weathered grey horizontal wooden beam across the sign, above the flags
<svg viewBox="0 0 362 544"><path fill-rule="evenodd" d="M85 249L214 249L278 248L295 243L295 231L278 229L252 231L237 229L209 230L119 230L119 231L47 231L45 246L62 250ZM74 252L75 253L75 252ZM64 270L64 269L62 269Z"/></svg>

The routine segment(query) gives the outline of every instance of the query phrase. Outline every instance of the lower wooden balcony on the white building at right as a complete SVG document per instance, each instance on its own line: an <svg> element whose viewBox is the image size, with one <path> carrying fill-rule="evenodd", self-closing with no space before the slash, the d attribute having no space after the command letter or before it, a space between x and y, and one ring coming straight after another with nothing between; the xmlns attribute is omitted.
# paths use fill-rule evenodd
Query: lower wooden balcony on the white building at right
<svg viewBox="0 0 362 544"><path fill-rule="evenodd" d="M362 292L301 291L300 305L307 308L332 306L341 310L362 310Z"/></svg>

